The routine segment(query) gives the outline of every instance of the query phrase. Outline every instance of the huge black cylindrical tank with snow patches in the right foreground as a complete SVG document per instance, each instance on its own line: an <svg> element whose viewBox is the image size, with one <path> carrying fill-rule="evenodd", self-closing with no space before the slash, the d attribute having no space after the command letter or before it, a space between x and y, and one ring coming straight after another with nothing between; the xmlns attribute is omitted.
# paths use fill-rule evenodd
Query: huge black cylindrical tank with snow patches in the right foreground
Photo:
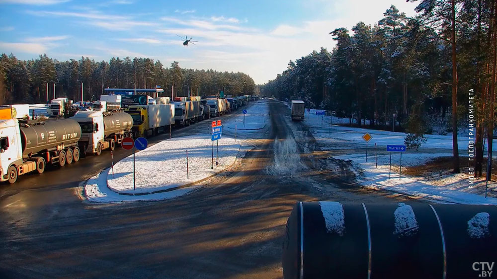
<svg viewBox="0 0 497 279"><path fill-rule="evenodd" d="M481 278L497 270L496 251L496 206L297 203L286 225L283 276Z"/></svg>

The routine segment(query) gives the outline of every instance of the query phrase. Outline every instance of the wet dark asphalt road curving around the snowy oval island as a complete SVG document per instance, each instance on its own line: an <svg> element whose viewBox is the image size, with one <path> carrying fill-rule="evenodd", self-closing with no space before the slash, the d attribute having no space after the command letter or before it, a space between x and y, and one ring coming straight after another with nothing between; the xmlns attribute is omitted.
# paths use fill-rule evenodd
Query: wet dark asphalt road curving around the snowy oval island
<svg viewBox="0 0 497 279"><path fill-rule="evenodd" d="M306 128L289 121L284 104L270 101L269 107L271 126L258 135L257 147L184 197L82 201L78 186L110 165L109 152L0 185L0 277L282 278L282 237L296 202L404 200L317 175L313 145L295 141ZM209 123L173 136L205 133ZM130 154L120 148L114 153L116 160Z"/></svg>

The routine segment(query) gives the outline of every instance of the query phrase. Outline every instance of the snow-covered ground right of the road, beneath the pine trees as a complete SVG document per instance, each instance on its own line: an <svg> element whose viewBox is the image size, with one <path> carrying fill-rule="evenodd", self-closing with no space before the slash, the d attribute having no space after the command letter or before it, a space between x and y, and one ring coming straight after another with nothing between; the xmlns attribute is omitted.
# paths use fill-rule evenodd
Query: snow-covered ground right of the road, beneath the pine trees
<svg viewBox="0 0 497 279"><path fill-rule="evenodd" d="M475 180L470 187L469 174L450 174L433 170L428 176L406 177L399 175L400 154L392 155L392 171L389 178L390 153L386 151L387 144L404 145L405 133L377 131L362 128L337 126L348 123L348 119L331 116L316 116L316 110L308 113L306 109L305 123L321 150L336 150L334 159L351 160L353 171L358 183L373 189L384 189L391 192L403 193L425 200L459 204L497 204L497 184L489 184L489 198L485 198L484 180ZM373 139L368 143L368 162L365 161L364 148L366 142L362 139L365 133ZM402 155L402 166L417 166L437 157L452 156L452 136L426 135L428 138L419 150L410 150ZM378 149L378 167L375 164L375 146ZM461 166L467 165L468 135L459 135L458 144L461 156ZM357 149L361 149L358 151ZM350 150L338 152L339 150ZM494 140L494 150L497 150L497 140ZM399 179L400 177L400 179Z"/></svg>

